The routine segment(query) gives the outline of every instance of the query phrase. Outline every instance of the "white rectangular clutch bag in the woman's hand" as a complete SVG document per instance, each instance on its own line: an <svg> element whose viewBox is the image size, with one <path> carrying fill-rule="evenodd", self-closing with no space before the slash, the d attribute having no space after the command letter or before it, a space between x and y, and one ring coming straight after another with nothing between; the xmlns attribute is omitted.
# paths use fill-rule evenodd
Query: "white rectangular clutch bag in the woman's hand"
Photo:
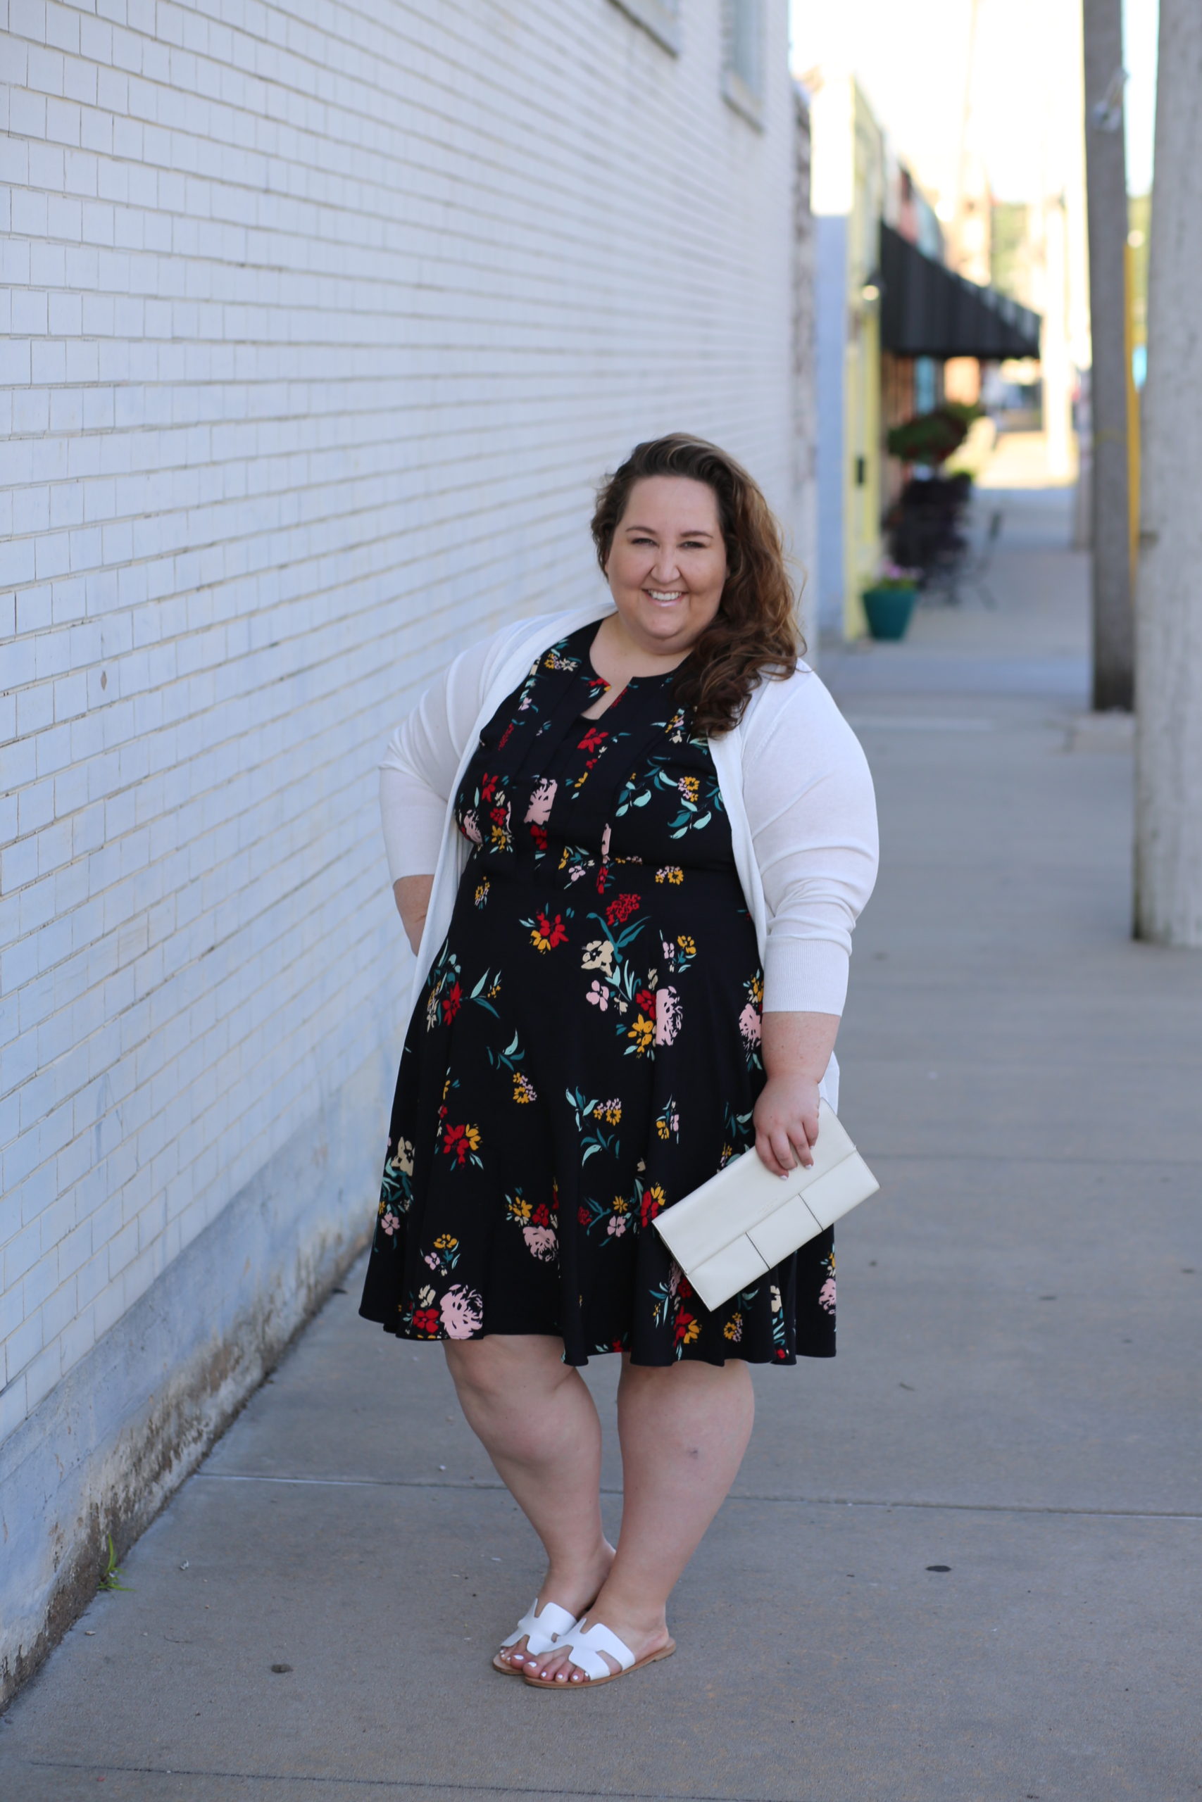
<svg viewBox="0 0 1202 1802"><path fill-rule="evenodd" d="M782 1180L744 1151L656 1216L654 1227L706 1308L742 1288L876 1195L879 1182L856 1151L838 1114L818 1105L818 1142L809 1169Z"/></svg>

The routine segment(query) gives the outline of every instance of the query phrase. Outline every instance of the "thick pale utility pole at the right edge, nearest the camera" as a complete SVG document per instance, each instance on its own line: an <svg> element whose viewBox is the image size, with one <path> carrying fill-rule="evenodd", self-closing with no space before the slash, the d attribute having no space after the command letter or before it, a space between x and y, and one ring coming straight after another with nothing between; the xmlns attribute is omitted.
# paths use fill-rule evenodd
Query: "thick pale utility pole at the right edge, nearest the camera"
<svg viewBox="0 0 1202 1802"><path fill-rule="evenodd" d="M1202 7L1161 0L1135 719L1135 937L1202 946Z"/></svg>

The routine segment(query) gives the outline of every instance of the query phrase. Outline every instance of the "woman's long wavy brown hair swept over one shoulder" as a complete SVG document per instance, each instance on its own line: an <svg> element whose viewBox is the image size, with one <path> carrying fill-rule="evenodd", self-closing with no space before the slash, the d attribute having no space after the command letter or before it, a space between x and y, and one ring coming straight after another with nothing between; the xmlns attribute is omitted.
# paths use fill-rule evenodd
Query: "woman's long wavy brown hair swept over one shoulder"
<svg viewBox="0 0 1202 1802"><path fill-rule="evenodd" d="M647 476L688 476L712 488L717 499L726 586L717 614L679 665L674 687L703 732L730 732L755 685L791 676L806 651L780 526L759 485L726 450L688 432L669 432L634 445L598 488L593 542L602 573L631 490Z"/></svg>

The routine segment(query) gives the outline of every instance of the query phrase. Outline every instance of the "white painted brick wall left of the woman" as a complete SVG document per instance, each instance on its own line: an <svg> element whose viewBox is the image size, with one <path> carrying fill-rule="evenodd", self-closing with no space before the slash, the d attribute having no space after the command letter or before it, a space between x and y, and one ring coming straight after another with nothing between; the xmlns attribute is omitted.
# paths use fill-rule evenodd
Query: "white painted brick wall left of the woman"
<svg viewBox="0 0 1202 1802"><path fill-rule="evenodd" d="M764 132L719 14L0 0L0 1436L398 1043L380 744L589 485L688 427L793 512L786 0Z"/></svg>

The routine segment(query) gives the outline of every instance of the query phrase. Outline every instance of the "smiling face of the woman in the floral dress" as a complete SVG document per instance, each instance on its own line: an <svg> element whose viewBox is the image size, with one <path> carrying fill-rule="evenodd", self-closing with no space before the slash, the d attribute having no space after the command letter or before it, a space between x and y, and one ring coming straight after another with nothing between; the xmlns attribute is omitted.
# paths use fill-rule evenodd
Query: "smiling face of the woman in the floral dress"
<svg viewBox="0 0 1202 1802"><path fill-rule="evenodd" d="M672 656L706 629L726 584L717 496L688 476L647 476L631 488L606 577L640 651Z"/></svg>

